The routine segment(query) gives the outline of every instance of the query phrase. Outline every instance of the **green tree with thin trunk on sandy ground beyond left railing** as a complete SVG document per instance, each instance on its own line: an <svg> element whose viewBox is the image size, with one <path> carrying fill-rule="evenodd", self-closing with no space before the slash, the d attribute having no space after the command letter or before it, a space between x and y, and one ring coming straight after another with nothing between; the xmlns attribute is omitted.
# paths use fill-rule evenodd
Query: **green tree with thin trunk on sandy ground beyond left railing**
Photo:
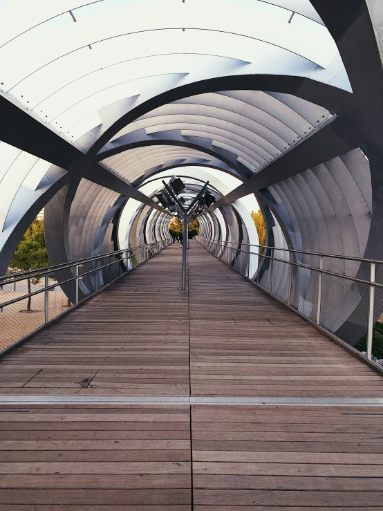
<svg viewBox="0 0 383 511"><path fill-rule="evenodd" d="M19 246L10 260L10 268L13 271L28 271L44 268L49 265L44 238L44 220L35 219L28 227L27 232L21 238ZM28 277L28 293L31 292L30 284L37 284L39 279ZM27 311L32 312L30 304L32 297L28 297Z"/></svg>

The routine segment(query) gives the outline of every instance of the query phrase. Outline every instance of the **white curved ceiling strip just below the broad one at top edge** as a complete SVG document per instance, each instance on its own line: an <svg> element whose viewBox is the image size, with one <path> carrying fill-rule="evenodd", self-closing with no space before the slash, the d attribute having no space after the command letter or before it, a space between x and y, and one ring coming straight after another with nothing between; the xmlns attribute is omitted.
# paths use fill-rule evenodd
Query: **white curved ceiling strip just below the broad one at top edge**
<svg viewBox="0 0 383 511"><path fill-rule="evenodd" d="M12 94L17 97L21 97L21 95L28 97L29 106L35 108L55 91L74 84L77 80L84 81L86 76L100 70L112 73L114 66L124 64L125 66L135 66L136 69L150 74L148 70L153 62L147 59L165 55L169 59L172 55L189 55L190 57L194 55L195 63L192 62L189 72L197 73L196 78L198 78L198 73L199 75L201 73L216 74L216 71L211 68L198 68L196 65L198 64L198 59L196 59L198 55L225 57L227 68L221 70L225 72L230 71L230 59L240 62L242 66L247 62L250 63L250 66L245 66L243 70L245 73L254 70L258 73L268 72L273 68L279 68L280 73L290 74L292 70L289 68L289 64L293 66L295 73L308 73L317 68L306 59L290 54L281 48L255 39L246 39L246 44L243 44L242 39L239 35L221 32L216 32L212 37L209 32L199 33L195 30L188 30L188 32L154 30L153 32L122 35L93 43L91 49L85 46L72 53L62 55L52 62L47 61L43 67L37 68L35 72L24 77L19 84L12 82L10 75L6 79L6 68L3 68L1 80L5 82L4 90L11 90ZM270 62L271 58L268 56L268 52L271 52L272 62ZM0 49L0 59L3 60L3 57ZM274 59L276 59L276 66L274 66ZM238 67L238 64L236 66ZM12 72L15 72L12 62L10 62L10 68L13 70ZM219 75L219 73L217 74ZM92 76L89 79L92 80Z"/></svg>

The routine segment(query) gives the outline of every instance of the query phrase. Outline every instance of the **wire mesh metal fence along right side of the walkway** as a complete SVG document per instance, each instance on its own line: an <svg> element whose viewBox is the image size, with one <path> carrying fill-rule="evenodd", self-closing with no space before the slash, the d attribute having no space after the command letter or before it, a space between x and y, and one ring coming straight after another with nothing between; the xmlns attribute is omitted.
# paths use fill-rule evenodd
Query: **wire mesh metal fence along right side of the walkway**
<svg viewBox="0 0 383 511"><path fill-rule="evenodd" d="M383 366L383 261L196 239L333 338Z"/></svg>

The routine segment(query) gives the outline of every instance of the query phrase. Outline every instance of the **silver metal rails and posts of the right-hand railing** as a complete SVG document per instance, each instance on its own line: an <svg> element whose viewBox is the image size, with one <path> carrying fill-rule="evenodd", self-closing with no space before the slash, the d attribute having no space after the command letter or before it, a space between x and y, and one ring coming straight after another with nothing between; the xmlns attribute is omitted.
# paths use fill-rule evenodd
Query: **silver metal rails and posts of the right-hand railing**
<svg viewBox="0 0 383 511"><path fill-rule="evenodd" d="M376 264L383 264L383 261L378 261L378 260L374 260L374 259L362 259L362 258L357 258L357 257L348 257L348 256L339 256L339 255L334 255L334 254L321 254L319 252L306 252L306 251L303 251L303 250L293 250L293 249L289 249L289 248L278 248L278 247L271 247L271 246L268 246L268 245L255 245L255 244L252 244L252 243L241 243L241 242L234 242L234 241L219 241L219 240L216 240L216 239L207 239L207 238L203 238L203 236L196 236L196 239L201 243L201 245L203 245L205 248L207 248L207 250L209 250L209 252L212 252L214 253L214 255L216 255L215 252L218 252L216 250L217 247L219 247L220 249L229 249L229 250L235 250L236 252L240 252L241 254L241 261L240 261L240 264L241 264L241 270L237 270L239 271L239 273L241 273L242 275L245 275L245 277L247 277L248 279L252 280L257 286L259 286L260 288L262 289L265 289L263 288L263 286L261 286L260 284L260 278L259 278L259 274L260 274L260 269L261 269L261 259L264 258L264 259L269 259L270 260L270 274L269 274L269 277L270 277L270 281L269 281L269 290L265 289L267 292L270 293L270 295L276 297L277 299L279 299L280 301L282 301L283 303L285 303L286 305L288 305L289 307L291 307L291 295L292 295L292 284L293 284L293 279L292 279L292 268L293 267L297 267L297 268L305 268L307 270L312 270L312 271L315 271L315 272L318 272L319 274L319 278L318 278L318 290L317 290L317 317L316 317L316 321L314 322L317 326L320 326L320 322L321 322L321 301L322 301L322 278L323 278L323 275L330 275L332 277L339 277L339 278L342 278L342 279L347 279L347 280L350 280L350 281L353 281L353 282L357 282L359 284L366 284L367 286L369 286L369 292L368 292L368 322L367 322L367 333L366 333L366 358L368 360L372 360L373 357L372 357L372 351L373 351L373 326L374 326L374 307L375 307L375 288L383 288L383 284L380 284L379 282L376 282L375 281L375 266ZM215 245L215 247L213 248L213 246ZM230 245L237 245L236 247L232 247ZM259 250L257 250L256 252L252 252L252 250L245 250L243 248L239 248L238 245L245 245L247 247L256 247L256 248L267 248L267 249L270 249L270 255L266 255L266 254L261 254L259 252ZM274 252L275 251L283 251L283 252L288 252L289 254L289 258L288 259L280 259L279 257L274 257ZM224 250L222 250L221 252L221 255L223 254ZM315 267L315 266L309 266L307 264L303 264L303 263L297 263L295 261L292 261L292 254L293 253L300 253L300 254L310 254L310 255L315 255L317 257L319 257L319 268ZM253 275L249 275L249 272L250 272L250 263L248 265L245 265L245 268L247 266L247 271L245 270L245 272L242 271L242 254L245 253L245 254L249 254L250 255L254 255L258 258L258 268L257 268L257 271L256 271L256 275L253 276ZM225 261L225 259L223 259L223 257L221 257L220 255L216 255L216 257L218 257L218 259L221 259L222 261L224 261L225 263L227 263L227 261ZM358 279L357 277L351 277L351 276L348 276L348 275L342 275L340 273L337 273L337 272L332 272L332 271L329 271L329 270L325 270L324 269L324 258L327 258L327 257L333 257L335 259L346 259L348 261L356 261L356 262L366 262L366 263L369 263L370 265L370 279L369 280L365 280L365 279ZM287 301L283 301L281 300L279 297L277 297L277 295L275 295L275 293L273 292L273 266L274 266L274 262L280 262L280 263L285 263L285 264L288 264L289 265L289 272L288 272L288 299ZM229 264L230 266L232 266L230 263L227 263ZM254 278L253 278L254 277ZM303 314L301 314L303 315ZM305 315L303 315L304 317L307 317ZM311 320L310 320L311 321ZM323 328L321 326L322 329L326 330L326 328ZM328 333L330 333L330 335L332 335L333 337L335 337L335 335L333 335L333 333L331 333L330 331L328 331Z"/></svg>

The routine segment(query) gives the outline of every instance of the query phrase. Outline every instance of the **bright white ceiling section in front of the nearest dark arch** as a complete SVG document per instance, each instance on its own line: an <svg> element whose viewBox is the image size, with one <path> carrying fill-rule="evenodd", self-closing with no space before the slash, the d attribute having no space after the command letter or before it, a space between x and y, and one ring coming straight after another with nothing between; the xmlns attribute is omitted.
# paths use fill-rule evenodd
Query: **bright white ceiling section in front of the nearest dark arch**
<svg viewBox="0 0 383 511"><path fill-rule="evenodd" d="M212 77L344 76L308 0L12 0L0 29L1 90L61 133L124 97Z"/></svg>

